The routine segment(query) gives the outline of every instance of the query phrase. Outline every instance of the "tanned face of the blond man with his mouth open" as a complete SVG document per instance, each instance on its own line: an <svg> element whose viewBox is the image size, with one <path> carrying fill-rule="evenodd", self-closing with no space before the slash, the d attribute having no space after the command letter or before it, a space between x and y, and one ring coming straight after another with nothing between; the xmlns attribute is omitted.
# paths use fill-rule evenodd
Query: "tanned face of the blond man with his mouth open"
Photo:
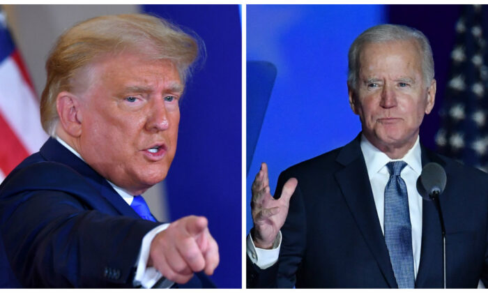
<svg viewBox="0 0 488 293"><path fill-rule="evenodd" d="M77 151L133 195L165 179L176 152L183 84L174 63L123 53L91 72Z"/></svg>

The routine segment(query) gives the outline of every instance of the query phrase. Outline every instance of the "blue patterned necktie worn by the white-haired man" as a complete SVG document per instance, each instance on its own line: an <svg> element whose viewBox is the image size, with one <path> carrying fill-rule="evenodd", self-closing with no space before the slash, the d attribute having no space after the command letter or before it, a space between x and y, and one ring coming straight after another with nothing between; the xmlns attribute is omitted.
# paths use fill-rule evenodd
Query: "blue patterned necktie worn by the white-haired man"
<svg viewBox="0 0 488 293"><path fill-rule="evenodd" d="M390 179L385 188L385 241L399 288L413 288L412 226L409 196L400 173L406 163L397 160L386 164Z"/></svg>

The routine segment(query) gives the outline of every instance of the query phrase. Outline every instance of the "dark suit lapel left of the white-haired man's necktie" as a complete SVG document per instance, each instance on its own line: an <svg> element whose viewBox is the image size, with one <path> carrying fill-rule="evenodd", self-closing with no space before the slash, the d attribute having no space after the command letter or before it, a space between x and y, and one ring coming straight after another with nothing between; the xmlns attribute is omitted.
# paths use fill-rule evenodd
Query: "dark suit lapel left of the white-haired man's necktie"
<svg viewBox="0 0 488 293"><path fill-rule="evenodd" d="M388 285L397 288L390 263L388 248L381 232L376 205L369 183L363 154L360 150L360 135L347 144L337 156L337 163L344 166L335 174L342 194L351 210L360 232L371 250Z"/></svg>

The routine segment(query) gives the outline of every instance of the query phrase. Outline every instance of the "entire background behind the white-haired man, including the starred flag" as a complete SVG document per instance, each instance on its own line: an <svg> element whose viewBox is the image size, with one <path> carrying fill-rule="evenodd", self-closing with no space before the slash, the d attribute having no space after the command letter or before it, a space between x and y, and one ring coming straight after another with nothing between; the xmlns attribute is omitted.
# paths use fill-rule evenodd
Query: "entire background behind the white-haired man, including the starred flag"
<svg viewBox="0 0 488 293"><path fill-rule="evenodd" d="M247 232L252 227L250 186L261 162L268 163L273 192L278 175L287 167L342 147L360 132L359 118L349 107L347 53L353 40L376 24L414 27L432 45L436 103L422 123L420 142L487 170L485 6L247 5L246 9ZM260 68L251 61L268 61L275 70L269 63Z"/></svg>

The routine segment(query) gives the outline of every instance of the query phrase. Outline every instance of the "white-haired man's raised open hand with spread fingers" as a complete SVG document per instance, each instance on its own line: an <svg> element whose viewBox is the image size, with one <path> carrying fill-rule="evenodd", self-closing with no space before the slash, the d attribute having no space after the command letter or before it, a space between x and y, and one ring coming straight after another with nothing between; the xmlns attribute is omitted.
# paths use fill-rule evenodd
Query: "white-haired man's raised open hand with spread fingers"
<svg viewBox="0 0 488 293"><path fill-rule="evenodd" d="M270 193L268 166L261 163L261 170L252 182L251 213L254 222L254 246L272 248L278 232L288 215L290 197L295 192L298 181L290 178L284 183L281 197L277 200Z"/></svg>

